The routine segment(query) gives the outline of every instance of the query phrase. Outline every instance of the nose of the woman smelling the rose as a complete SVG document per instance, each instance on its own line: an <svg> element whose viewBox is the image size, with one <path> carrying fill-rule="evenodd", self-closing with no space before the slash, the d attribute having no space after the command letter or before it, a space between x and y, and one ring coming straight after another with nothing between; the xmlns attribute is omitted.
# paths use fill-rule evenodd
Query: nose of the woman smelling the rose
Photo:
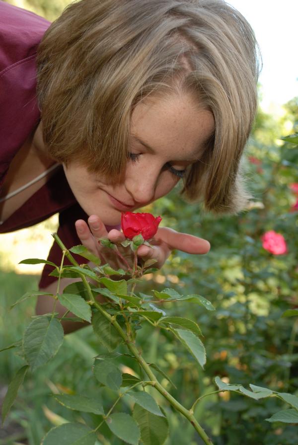
<svg viewBox="0 0 298 445"><path fill-rule="evenodd" d="M159 173L160 167L143 165L135 167L126 178L126 190L140 206L154 200Z"/></svg>

